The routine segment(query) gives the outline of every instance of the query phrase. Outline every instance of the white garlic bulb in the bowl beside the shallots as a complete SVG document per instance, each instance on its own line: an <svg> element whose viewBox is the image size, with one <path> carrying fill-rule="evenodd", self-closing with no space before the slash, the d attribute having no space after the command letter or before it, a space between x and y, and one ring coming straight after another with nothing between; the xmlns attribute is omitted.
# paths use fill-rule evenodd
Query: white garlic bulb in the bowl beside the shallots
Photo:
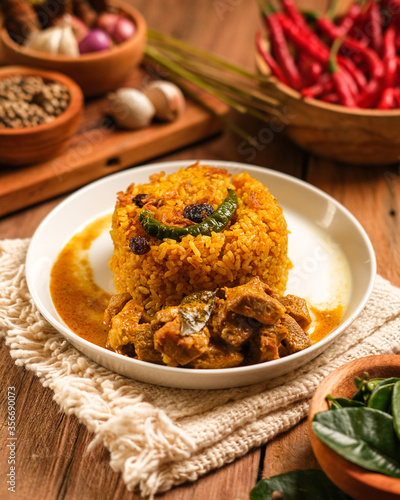
<svg viewBox="0 0 400 500"><path fill-rule="evenodd" d="M78 57L78 42L72 30L71 16L67 14L57 26L34 33L26 47L51 55Z"/></svg>

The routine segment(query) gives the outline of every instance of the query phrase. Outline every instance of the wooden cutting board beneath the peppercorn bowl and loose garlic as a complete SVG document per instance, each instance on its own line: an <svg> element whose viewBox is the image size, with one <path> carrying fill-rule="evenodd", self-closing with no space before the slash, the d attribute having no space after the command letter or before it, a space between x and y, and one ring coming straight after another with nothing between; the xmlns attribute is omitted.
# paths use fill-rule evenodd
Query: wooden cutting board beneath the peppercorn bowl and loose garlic
<svg viewBox="0 0 400 500"><path fill-rule="evenodd" d="M135 69L121 86L140 88L150 75ZM216 114L228 108L201 94ZM169 153L221 131L218 118L191 100L173 123L154 123L138 131L118 130L106 114L106 98L85 103L75 136L63 154L27 167L0 166L0 216L83 186L95 179ZM0 151L1 156L1 151Z"/></svg>

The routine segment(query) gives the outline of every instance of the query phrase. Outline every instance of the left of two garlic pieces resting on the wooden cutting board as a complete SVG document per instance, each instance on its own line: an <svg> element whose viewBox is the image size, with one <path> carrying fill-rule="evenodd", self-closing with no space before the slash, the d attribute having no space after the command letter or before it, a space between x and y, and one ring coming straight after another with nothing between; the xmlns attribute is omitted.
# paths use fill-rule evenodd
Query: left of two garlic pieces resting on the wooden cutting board
<svg viewBox="0 0 400 500"><path fill-rule="evenodd" d="M119 89L110 94L108 100L112 117L123 128L148 127L156 112L150 99L136 89Z"/></svg>

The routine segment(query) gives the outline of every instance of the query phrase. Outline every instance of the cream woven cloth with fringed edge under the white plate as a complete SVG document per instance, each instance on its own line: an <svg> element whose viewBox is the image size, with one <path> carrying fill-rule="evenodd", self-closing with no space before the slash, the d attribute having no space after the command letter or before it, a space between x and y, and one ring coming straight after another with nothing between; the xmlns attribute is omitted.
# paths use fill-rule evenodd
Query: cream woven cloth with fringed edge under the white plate
<svg viewBox="0 0 400 500"><path fill-rule="evenodd" d="M0 334L67 414L110 451L129 490L167 491L232 462L307 415L317 385L355 358L400 352L400 289L377 276L358 319L314 361L251 387L193 391L117 375L77 351L47 323L26 284L29 240L0 241Z"/></svg>

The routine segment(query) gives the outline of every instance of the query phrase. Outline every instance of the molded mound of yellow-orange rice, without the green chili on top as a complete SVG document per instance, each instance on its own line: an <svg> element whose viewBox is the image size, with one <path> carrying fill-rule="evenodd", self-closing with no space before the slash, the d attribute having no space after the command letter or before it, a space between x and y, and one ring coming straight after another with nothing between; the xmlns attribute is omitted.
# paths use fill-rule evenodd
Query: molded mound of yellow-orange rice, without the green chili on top
<svg viewBox="0 0 400 500"><path fill-rule="evenodd" d="M225 229L180 241L149 236L138 219L142 208L133 201L137 195L150 195L156 200L155 219L176 225L168 221L183 218L187 205L207 203L215 210L228 187L236 192L238 207ZM286 288L291 264L282 209L247 172L231 175L196 163L171 175L153 175L148 184L132 184L118 193L110 233L114 254L109 265L116 293L128 292L151 316L193 292L243 285L255 276L277 293ZM148 253L132 253L129 240L135 236L148 239Z"/></svg>

